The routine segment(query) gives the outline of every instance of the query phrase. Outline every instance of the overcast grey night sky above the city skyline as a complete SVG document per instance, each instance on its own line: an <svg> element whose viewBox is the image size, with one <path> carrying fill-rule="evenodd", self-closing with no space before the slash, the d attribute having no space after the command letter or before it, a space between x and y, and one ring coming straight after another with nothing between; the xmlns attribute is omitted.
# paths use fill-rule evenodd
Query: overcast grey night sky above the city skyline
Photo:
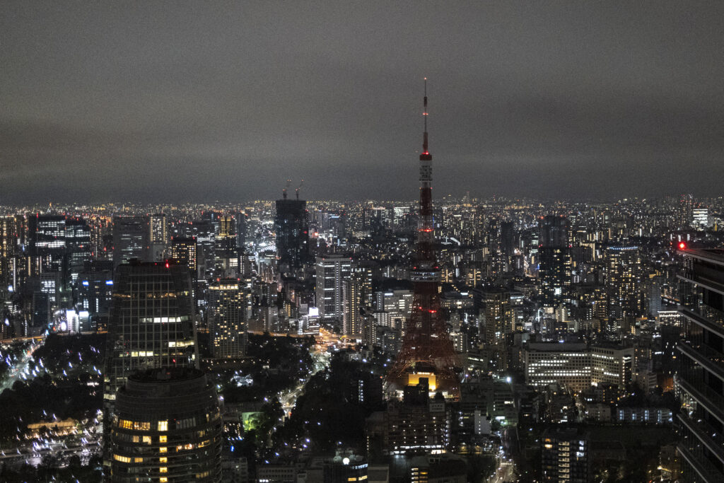
<svg viewBox="0 0 724 483"><path fill-rule="evenodd" d="M720 196L724 3L0 8L0 204Z"/></svg>

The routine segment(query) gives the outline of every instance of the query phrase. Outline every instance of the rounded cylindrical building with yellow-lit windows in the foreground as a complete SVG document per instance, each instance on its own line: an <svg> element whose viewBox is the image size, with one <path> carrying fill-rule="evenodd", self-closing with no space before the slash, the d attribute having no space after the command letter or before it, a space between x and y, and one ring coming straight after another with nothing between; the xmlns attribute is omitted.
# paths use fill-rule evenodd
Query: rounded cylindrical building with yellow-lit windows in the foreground
<svg viewBox="0 0 724 483"><path fill-rule="evenodd" d="M111 482L219 482L222 420L214 387L193 368L128 378L111 424Z"/></svg>

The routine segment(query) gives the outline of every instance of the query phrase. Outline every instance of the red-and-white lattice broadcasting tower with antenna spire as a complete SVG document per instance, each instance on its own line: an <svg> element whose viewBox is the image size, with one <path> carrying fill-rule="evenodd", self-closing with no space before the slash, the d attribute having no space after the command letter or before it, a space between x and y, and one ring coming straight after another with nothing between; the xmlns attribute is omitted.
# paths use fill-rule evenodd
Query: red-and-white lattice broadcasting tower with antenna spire
<svg viewBox="0 0 724 483"><path fill-rule="evenodd" d="M407 374L430 371L437 388L457 396L460 392L455 374L455 350L440 314L440 271L434 248L432 215L432 155L427 135L427 80L425 80L422 152L420 154L420 216L416 260L410 271L413 282L413 307L405 325L405 336L397 360L387 373L387 385L406 385Z"/></svg>

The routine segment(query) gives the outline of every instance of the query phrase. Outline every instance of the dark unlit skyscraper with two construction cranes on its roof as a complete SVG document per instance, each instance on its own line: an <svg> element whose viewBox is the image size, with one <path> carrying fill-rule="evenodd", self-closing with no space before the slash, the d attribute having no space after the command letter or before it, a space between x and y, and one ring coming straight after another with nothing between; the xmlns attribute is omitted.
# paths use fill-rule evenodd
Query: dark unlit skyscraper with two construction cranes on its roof
<svg viewBox="0 0 724 483"><path fill-rule="evenodd" d="M279 272L294 272L309 260L307 202L285 197L277 200L274 230L277 233Z"/></svg>

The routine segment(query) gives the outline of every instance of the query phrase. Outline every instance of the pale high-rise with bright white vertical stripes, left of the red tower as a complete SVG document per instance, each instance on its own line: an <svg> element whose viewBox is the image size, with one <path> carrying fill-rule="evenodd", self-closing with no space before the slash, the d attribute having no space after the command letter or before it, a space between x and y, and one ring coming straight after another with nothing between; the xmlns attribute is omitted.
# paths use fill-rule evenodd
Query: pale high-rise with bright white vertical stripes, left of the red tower
<svg viewBox="0 0 724 483"><path fill-rule="evenodd" d="M316 304L322 322L342 323L345 314L344 282L349 280L352 260L343 255L319 256L316 259Z"/></svg>

